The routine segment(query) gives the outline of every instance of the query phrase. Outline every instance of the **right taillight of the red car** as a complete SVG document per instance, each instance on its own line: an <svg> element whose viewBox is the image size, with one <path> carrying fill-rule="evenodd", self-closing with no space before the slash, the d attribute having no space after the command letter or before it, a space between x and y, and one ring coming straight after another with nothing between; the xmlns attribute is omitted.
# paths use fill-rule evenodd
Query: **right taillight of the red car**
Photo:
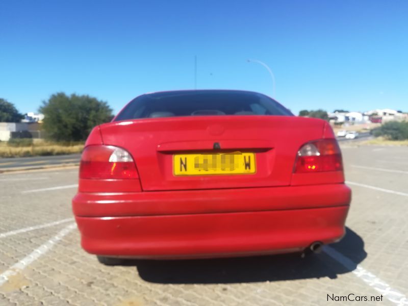
<svg viewBox="0 0 408 306"><path fill-rule="evenodd" d="M305 143L297 152L294 173L343 170L336 139L321 139Z"/></svg>

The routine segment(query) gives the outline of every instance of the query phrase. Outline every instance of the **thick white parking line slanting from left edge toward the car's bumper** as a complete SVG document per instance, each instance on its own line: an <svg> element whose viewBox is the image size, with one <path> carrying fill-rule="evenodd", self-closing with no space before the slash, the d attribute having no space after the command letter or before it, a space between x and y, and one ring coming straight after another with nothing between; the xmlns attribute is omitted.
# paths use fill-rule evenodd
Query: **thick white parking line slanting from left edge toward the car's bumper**
<svg viewBox="0 0 408 306"><path fill-rule="evenodd" d="M44 255L46 252L48 252L58 241L60 241L65 235L69 234L76 226L77 226L77 224L72 223L72 224L69 224L68 226L64 227L53 238L49 239L44 244L40 245L38 248L36 248L34 251L32 251L30 254L28 254L26 257L24 257L22 260L15 263L8 270L6 270L2 274L0 274L0 286L2 286L4 283L6 283L10 276L18 274L25 267L27 267L28 265L30 265L31 263L36 261L38 258L40 258L42 255Z"/></svg>

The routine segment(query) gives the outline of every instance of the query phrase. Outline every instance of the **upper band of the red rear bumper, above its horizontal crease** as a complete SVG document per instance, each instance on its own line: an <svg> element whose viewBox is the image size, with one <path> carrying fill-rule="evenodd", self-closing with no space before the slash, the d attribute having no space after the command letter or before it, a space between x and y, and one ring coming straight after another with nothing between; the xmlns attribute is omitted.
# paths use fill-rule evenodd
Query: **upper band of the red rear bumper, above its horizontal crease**
<svg viewBox="0 0 408 306"><path fill-rule="evenodd" d="M80 181L80 191L83 181ZM133 180L129 181L132 181L130 184L134 184ZM97 184L95 185L97 186ZM101 187L106 188L105 182L104 186ZM103 193L79 192L73 198L72 204L76 216L131 217L297 210L342 206L350 202L350 197L351 191L345 184L326 184L166 192L123 192L119 194L112 194L110 190Z"/></svg>

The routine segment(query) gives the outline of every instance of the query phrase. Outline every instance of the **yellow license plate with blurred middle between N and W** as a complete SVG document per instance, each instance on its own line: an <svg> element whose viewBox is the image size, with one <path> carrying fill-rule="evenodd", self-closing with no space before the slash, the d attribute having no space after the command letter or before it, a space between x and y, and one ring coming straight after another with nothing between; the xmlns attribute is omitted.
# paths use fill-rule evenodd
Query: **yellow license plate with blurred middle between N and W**
<svg viewBox="0 0 408 306"><path fill-rule="evenodd" d="M253 174L254 153L175 154L173 173L179 175Z"/></svg>

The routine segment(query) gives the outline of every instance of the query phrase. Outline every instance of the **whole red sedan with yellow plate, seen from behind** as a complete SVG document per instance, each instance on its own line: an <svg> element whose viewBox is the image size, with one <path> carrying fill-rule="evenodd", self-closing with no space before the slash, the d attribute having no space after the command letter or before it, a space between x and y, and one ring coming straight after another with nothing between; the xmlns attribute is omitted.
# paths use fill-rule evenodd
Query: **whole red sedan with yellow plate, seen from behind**
<svg viewBox="0 0 408 306"><path fill-rule="evenodd" d="M192 259L319 250L351 198L330 125L255 92L141 95L96 126L72 200L82 247Z"/></svg>

